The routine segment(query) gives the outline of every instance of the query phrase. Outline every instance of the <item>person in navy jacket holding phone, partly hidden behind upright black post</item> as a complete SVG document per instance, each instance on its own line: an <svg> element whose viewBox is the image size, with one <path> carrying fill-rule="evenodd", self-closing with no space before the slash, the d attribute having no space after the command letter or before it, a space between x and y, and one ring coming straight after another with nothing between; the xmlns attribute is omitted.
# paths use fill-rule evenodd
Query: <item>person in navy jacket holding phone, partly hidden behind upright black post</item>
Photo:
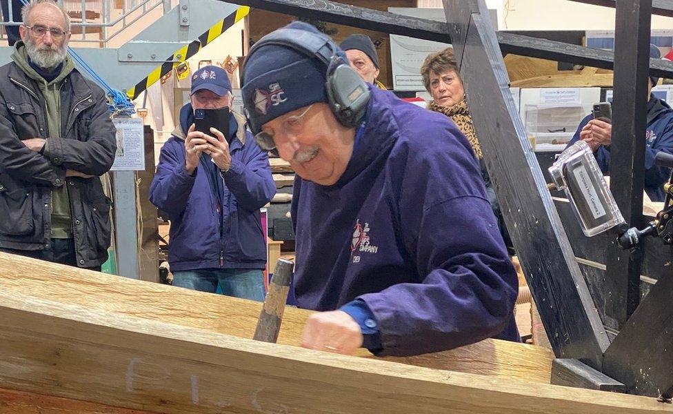
<svg viewBox="0 0 673 414"><path fill-rule="evenodd" d="M659 59L661 52L654 45L650 46L650 57ZM666 194L663 184L671 175L670 168L654 165L654 156L663 151L673 154L673 109L662 99L652 95L652 86L659 79L650 77L647 95L647 130L645 131L645 193L652 201L664 201ZM585 141L594 151L594 157L598 161L604 175L610 174L610 144L612 143L612 125L601 119L594 119L593 115L587 115L568 144L571 146L576 141Z"/></svg>

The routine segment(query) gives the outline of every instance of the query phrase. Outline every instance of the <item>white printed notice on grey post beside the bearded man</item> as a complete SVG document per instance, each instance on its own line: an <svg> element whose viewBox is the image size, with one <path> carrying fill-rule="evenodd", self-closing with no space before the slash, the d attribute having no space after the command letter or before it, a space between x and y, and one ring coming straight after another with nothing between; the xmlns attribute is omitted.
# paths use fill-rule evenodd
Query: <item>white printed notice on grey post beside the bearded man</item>
<svg viewBox="0 0 673 414"><path fill-rule="evenodd" d="M145 170L145 137L143 120L140 118L113 118L117 128L117 153L114 155L112 171Z"/></svg>

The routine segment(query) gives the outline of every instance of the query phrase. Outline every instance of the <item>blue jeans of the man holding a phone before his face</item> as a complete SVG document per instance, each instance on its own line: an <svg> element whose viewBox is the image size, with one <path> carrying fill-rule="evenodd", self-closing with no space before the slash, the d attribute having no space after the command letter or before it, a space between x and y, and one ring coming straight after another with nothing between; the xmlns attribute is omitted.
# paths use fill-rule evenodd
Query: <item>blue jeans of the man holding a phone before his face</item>
<svg viewBox="0 0 673 414"><path fill-rule="evenodd" d="M217 292L223 295L264 301L264 273L259 269L197 269L173 272L173 286Z"/></svg>

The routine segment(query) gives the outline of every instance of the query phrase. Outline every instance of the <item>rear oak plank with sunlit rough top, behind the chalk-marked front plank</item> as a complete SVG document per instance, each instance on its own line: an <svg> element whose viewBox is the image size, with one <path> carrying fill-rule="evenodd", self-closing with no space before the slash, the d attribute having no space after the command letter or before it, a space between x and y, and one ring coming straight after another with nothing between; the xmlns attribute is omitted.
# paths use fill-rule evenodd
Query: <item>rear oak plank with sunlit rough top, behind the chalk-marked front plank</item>
<svg viewBox="0 0 673 414"><path fill-rule="evenodd" d="M0 291L243 338L252 338L261 311L259 302L126 279L7 253L0 253ZM300 346L301 331L310 314L298 308L285 309L278 343ZM359 351L358 356L375 358L365 350ZM442 353L385 359L549 384L553 358L547 348L486 339Z"/></svg>

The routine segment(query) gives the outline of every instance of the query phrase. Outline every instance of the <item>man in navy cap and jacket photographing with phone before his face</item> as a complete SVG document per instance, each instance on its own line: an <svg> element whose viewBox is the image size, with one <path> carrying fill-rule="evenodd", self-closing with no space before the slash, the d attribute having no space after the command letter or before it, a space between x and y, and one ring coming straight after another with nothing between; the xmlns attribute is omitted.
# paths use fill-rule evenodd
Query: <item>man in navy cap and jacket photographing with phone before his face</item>
<svg viewBox="0 0 673 414"><path fill-rule="evenodd" d="M195 109L231 108L231 92L223 68L194 73L190 103L161 148L150 201L170 217L174 286L214 293L219 284L225 295L262 301L266 242L259 209L276 193L268 156L235 112L228 131L194 128Z"/></svg>

